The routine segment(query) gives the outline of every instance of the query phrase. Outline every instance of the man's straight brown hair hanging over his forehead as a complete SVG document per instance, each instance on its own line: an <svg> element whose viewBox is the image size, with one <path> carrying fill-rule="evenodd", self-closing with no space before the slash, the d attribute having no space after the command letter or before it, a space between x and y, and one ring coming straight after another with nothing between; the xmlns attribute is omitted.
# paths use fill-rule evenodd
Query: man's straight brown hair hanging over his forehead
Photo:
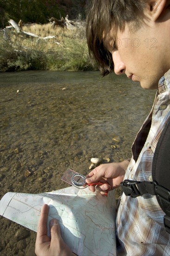
<svg viewBox="0 0 170 256"><path fill-rule="evenodd" d="M139 27L146 0L91 0L86 19L86 37L89 54L94 58L105 76L111 73L114 63L111 53L106 49L103 35L111 28L124 31L125 23L135 22Z"/></svg>

